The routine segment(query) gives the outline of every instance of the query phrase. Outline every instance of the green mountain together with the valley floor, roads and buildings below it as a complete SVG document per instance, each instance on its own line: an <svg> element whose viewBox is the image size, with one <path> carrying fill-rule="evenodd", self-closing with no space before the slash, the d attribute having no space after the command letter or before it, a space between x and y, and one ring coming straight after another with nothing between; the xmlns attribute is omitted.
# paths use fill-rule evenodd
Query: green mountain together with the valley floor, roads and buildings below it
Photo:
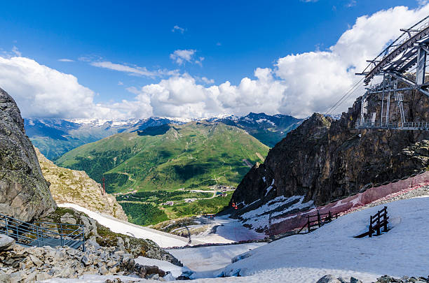
<svg viewBox="0 0 429 283"><path fill-rule="evenodd" d="M268 147L242 129L221 122L165 124L118 133L64 154L55 162L104 178L130 222L220 212ZM244 162L246 160L247 162Z"/></svg>

